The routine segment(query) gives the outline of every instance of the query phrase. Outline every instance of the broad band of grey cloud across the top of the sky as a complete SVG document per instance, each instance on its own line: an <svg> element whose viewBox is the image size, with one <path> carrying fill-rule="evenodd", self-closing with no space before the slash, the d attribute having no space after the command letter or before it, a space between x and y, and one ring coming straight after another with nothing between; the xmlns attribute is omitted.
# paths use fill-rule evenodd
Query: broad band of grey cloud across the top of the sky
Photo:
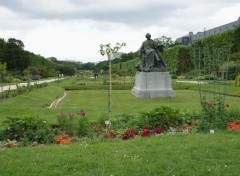
<svg viewBox="0 0 240 176"><path fill-rule="evenodd" d="M28 3L27 3L28 2ZM41 2L41 3L40 3ZM133 2L126 3L126 2ZM202 14L206 4L212 6L214 11L223 7L225 3L239 3L239 0L186 0L184 2L174 0L0 0L0 6L4 6L26 19L45 20L90 20L104 23L121 23L129 26L165 25L171 26L170 21L202 18L209 15ZM55 5L58 6L53 7ZM61 5L62 4L62 5ZM64 5L67 5L66 7ZM187 11L192 10L191 14ZM216 9L216 10L215 10ZM186 11L185 11L186 10Z"/></svg>

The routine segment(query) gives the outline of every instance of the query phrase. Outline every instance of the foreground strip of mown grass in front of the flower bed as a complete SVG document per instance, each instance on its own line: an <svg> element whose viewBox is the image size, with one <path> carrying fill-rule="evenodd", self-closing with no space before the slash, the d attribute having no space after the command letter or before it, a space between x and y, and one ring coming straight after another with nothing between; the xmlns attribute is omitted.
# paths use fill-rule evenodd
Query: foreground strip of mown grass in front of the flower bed
<svg viewBox="0 0 240 176"><path fill-rule="evenodd" d="M161 135L0 149L0 175L237 176L239 135Z"/></svg>

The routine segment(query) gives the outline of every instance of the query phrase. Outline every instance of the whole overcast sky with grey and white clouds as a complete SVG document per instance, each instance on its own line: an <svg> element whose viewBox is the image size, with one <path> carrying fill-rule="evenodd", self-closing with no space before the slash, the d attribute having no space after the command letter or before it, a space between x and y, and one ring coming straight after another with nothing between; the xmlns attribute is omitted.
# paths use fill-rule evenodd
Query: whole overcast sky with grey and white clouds
<svg viewBox="0 0 240 176"><path fill-rule="evenodd" d="M236 21L239 0L0 0L0 38L58 60L98 62L99 45L135 52L148 32L175 40Z"/></svg>

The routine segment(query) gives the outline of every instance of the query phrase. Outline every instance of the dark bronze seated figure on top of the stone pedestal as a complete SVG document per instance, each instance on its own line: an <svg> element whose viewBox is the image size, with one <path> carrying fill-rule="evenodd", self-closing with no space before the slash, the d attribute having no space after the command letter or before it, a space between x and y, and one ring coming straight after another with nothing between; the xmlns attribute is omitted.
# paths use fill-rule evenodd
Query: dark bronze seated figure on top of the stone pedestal
<svg viewBox="0 0 240 176"><path fill-rule="evenodd" d="M151 39L149 33L146 34L147 40L142 43L139 49L140 61L136 65L137 71L143 72L166 72L167 65L165 64L160 52L163 51L163 46L158 46Z"/></svg>

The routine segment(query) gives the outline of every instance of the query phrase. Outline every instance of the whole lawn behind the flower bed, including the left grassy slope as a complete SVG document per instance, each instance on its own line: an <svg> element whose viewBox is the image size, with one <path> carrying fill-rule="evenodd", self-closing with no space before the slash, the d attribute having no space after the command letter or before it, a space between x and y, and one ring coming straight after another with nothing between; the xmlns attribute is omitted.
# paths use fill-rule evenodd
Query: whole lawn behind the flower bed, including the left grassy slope
<svg viewBox="0 0 240 176"><path fill-rule="evenodd" d="M74 90L68 91L65 99L57 108L48 106L57 98L63 96L64 89L58 83L34 90L14 98L0 101L0 122L6 117L39 117L55 121L59 113L76 114L81 109L87 112L87 117L96 120L108 116L107 90ZM226 103L231 108L239 108L238 97L226 97ZM195 90L176 90L175 98L139 99L131 95L130 90L113 90L111 97L112 118L117 115L139 114L148 112L160 106L170 106L182 110L200 111L200 98Z"/></svg>

